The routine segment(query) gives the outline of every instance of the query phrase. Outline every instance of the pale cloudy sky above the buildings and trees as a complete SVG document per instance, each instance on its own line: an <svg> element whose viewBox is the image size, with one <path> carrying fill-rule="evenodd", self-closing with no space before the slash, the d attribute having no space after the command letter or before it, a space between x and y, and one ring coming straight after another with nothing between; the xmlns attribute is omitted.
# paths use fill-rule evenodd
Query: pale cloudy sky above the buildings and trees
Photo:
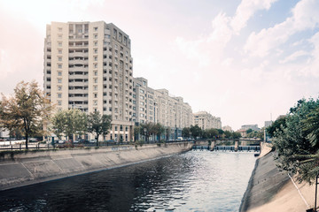
<svg viewBox="0 0 319 212"><path fill-rule="evenodd" d="M319 95L318 0L0 0L0 93L43 86L51 21L113 23L131 39L134 77L222 125L264 126Z"/></svg>

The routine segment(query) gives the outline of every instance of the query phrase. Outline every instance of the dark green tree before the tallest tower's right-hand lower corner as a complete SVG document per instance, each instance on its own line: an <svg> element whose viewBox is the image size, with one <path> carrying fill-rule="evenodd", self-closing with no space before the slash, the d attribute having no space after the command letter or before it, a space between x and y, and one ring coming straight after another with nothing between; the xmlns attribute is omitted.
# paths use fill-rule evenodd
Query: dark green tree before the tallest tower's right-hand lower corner
<svg viewBox="0 0 319 212"><path fill-rule="evenodd" d="M107 134L111 129L112 117L109 115L101 115L99 111L89 113L88 116L88 131L89 133L97 134L97 147L98 136L100 134Z"/></svg>

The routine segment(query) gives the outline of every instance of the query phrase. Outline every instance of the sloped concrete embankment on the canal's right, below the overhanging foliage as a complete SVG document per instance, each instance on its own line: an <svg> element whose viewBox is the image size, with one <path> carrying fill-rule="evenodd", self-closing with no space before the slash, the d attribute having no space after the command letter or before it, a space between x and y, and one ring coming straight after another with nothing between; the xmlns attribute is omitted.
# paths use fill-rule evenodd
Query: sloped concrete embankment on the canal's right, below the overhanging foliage
<svg viewBox="0 0 319 212"><path fill-rule="evenodd" d="M299 184L295 178L279 171L274 152L268 152L256 161L240 211L306 211L314 206L314 197L315 186Z"/></svg>

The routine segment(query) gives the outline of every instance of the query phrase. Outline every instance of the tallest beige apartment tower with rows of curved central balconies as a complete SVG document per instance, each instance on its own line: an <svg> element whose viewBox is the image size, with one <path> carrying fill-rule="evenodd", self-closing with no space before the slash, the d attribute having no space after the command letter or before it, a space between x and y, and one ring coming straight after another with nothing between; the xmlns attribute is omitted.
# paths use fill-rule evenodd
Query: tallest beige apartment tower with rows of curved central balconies
<svg viewBox="0 0 319 212"><path fill-rule="evenodd" d="M44 40L44 91L58 110L111 115L112 140L133 139L133 58L119 27L51 22Z"/></svg>

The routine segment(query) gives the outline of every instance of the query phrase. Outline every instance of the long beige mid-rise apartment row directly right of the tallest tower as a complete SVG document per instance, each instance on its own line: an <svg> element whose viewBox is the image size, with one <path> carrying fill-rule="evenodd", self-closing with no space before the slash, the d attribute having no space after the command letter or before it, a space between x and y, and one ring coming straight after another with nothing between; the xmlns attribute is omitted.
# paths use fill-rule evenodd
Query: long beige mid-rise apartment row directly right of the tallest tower
<svg viewBox="0 0 319 212"><path fill-rule="evenodd" d="M182 136L183 127L193 121L191 106L182 97L173 97L167 89L152 89L144 78L134 78L133 120L136 125L159 123L171 130L168 139Z"/></svg>

